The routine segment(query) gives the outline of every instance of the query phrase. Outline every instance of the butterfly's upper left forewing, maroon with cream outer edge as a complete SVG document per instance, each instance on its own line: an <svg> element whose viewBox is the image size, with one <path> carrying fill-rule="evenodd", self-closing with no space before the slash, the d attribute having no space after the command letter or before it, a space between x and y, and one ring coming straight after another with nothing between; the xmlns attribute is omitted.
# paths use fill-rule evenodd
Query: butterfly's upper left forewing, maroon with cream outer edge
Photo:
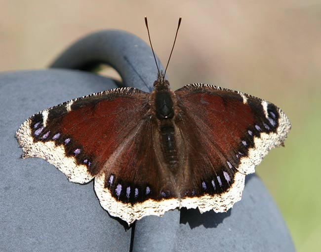
<svg viewBox="0 0 321 252"><path fill-rule="evenodd" d="M23 157L43 158L68 180L86 183L142 120L148 97L134 88L119 88L42 110L16 133Z"/></svg>

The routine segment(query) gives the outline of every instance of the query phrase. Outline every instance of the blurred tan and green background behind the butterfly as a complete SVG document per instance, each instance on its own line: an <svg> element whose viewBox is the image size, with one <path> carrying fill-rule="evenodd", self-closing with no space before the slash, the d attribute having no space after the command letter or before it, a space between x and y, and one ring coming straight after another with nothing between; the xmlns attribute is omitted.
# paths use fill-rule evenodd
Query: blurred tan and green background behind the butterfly
<svg viewBox="0 0 321 252"><path fill-rule="evenodd" d="M73 41L100 29L148 41L145 15L165 65L182 16L167 71L172 86L216 84L286 112L292 131L285 148L272 150L257 173L297 250L320 249L320 0L0 0L0 6L0 72L46 68Z"/></svg>

